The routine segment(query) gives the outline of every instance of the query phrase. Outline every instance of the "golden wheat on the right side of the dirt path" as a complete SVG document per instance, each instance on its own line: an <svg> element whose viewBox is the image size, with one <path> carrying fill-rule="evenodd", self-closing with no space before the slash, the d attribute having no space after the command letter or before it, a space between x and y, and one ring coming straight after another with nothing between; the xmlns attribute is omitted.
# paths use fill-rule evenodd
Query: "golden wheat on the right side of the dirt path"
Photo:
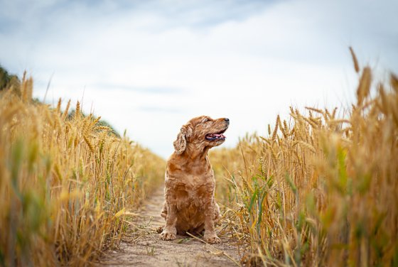
<svg viewBox="0 0 398 267"><path fill-rule="evenodd" d="M398 79L353 59L345 115L291 108L266 137L210 154L247 266L398 266Z"/></svg>

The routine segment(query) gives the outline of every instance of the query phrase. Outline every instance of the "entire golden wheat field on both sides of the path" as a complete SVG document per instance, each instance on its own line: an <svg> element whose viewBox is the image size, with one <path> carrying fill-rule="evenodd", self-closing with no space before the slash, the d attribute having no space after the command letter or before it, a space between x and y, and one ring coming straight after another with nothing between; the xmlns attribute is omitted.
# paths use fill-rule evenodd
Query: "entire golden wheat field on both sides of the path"
<svg viewBox="0 0 398 267"><path fill-rule="evenodd" d="M349 109L291 108L210 152L244 266L398 266L398 79L360 67ZM86 266L117 246L165 161L80 104L0 92L0 265ZM272 125L272 126L271 126ZM160 207L159 207L160 208Z"/></svg>

